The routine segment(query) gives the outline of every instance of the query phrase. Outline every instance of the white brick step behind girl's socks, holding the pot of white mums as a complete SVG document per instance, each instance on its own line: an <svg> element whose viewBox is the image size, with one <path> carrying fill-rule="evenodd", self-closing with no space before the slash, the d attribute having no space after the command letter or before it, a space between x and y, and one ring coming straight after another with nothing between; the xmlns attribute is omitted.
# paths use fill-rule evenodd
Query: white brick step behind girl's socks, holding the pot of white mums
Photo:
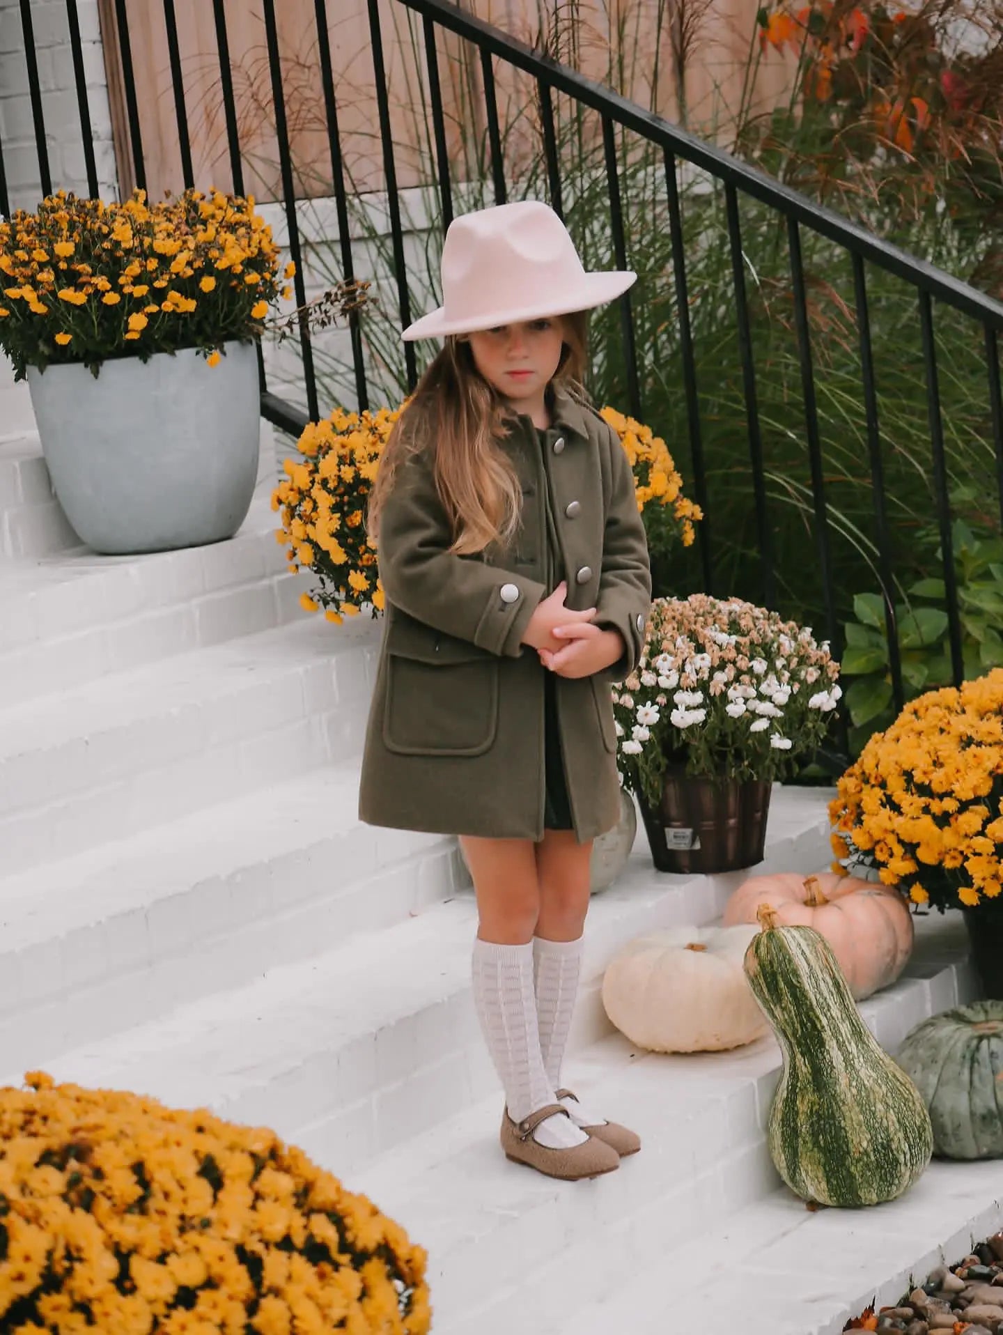
<svg viewBox="0 0 1003 1335"><path fill-rule="evenodd" d="M776 806L766 866L818 866L826 842L818 794L778 793ZM640 844L590 912L576 1045L610 1032L599 985L620 943L663 922L714 920L740 878L662 876ZM60 1079L208 1104L289 1139L312 1125L313 1143L328 1147L325 1159L347 1168L493 1087L471 1000L475 928L473 896L463 892L308 964L275 968L251 987L49 1064Z"/></svg>

